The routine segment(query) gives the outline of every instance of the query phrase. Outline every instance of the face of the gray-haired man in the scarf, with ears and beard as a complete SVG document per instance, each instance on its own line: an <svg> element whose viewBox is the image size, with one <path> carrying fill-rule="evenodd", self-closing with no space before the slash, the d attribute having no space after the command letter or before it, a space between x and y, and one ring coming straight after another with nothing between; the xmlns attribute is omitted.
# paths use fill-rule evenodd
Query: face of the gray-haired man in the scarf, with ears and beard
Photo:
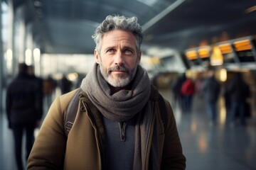
<svg viewBox="0 0 256 170"><path fill-rule="evenodd" d="M114 87L126 86L132 81L141 55L137 53L135 36L124 30L112 30L103 35L100 54L95 50L102 76Z"/></svg>

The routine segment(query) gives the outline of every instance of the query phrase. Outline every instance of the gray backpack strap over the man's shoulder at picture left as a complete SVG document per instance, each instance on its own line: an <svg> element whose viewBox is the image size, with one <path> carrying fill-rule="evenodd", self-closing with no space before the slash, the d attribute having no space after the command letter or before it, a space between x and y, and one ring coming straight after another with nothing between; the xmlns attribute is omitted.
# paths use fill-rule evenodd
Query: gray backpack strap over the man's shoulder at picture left
<svg viewBox="0 0 256 170"><path fill-rule="evenodd" d="M76 114L78 112L78 103L79 103L79 94L82 89L79 88L78 91L75 92L75 95L73 98L70 100L70 103L68 104L68 108L65 114L65 119L64 119L64 125L65 125L65 135L68 137L68 133L70 132L74 121Z"/></svg>

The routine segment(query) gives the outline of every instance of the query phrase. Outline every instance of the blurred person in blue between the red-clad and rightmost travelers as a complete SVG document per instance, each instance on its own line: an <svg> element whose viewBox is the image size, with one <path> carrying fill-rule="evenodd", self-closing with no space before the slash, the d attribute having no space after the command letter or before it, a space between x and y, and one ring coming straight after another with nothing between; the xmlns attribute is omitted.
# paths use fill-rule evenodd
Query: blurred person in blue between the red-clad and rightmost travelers
<svg viewBox="0 0 256 170"><path fill-rule="evenodd" d="M206 111L210 120L210 125L215 125L217 117L217 102L220 95L220 83L215 79L214 71L208 71L208 78L203 81L202 86Z"/></svg>

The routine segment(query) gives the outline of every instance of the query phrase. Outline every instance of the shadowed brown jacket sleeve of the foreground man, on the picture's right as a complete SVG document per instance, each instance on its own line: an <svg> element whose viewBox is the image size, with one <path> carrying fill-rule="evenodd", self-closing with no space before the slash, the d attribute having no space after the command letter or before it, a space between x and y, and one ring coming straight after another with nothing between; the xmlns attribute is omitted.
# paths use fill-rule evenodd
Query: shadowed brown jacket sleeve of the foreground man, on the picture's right
<svg viewBox="0 0 256 170"><path fill-rule="evenodd" d="M181 141L176 128L176 120L171 105L165 100L167 125L161 169L186 169L186 157L183 155Z"/></svg>

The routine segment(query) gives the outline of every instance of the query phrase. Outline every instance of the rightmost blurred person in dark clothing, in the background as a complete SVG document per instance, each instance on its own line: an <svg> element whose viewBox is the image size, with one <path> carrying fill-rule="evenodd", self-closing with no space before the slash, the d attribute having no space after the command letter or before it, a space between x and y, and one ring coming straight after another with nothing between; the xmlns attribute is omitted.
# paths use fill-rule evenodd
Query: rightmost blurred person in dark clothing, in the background
<svg viewBox="0 0 256 170"><path fill-rule="evenodd" d="M235 73L235 77L230 81L227 86L227 93L230 96L230 126L235 125L236 116L240 119L241 125L246 125L245 122L245 107L246 100L250 97L249 86L242 79L240 72Z"/></svg>

